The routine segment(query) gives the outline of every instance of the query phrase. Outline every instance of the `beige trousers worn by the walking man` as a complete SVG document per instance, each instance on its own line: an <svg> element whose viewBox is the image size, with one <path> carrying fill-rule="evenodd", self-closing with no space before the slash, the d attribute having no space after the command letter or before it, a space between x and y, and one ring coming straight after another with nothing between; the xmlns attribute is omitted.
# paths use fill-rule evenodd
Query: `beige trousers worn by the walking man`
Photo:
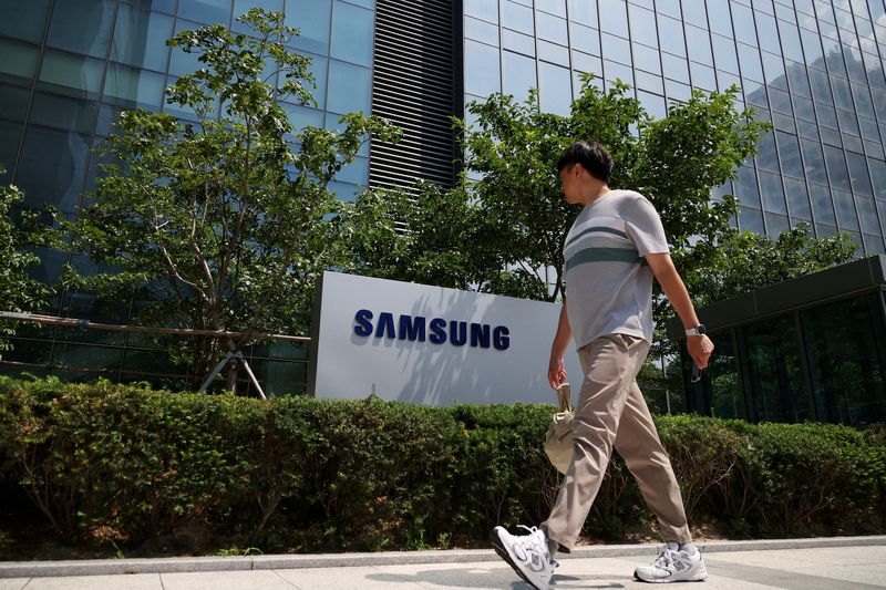
<svg viewBox="0 0 886 590"><path fill-rule="evenodd" d="M573 464L540 528L569 552L600 489L612 447L637 479L666 541L690 542L680 487L637 386L649 343L625 334L598 338L578 351L585 379L573 422Z"/></svg>

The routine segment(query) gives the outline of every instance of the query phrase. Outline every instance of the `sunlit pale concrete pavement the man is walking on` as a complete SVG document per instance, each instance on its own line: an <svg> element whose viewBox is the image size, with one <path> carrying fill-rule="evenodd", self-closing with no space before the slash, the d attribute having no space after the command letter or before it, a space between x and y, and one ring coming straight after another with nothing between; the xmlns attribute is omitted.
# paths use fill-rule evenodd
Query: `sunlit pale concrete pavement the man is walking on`
<svg viewBox="0 0 886 590"><path fill-rule="evenodd" d="M886 589L886 537L698 545L710 573L705 590ZM657 551L652 545L579 548L558 557L552 589L649 588L633 579L633 568ZM529 589L491 550L0 562L0 590L495 588Z"/></svg>

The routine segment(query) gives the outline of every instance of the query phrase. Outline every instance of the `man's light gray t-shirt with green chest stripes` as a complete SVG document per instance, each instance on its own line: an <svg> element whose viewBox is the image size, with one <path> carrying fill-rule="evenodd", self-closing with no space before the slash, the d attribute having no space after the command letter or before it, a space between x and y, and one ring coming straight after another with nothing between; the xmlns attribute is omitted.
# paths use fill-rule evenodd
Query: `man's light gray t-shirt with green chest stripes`
<svg viewBox="0 0 886 590"><path fill-rule="evenodd" d="M633 190L586 206L566 236L566 313L576 346L606 334L652 342L652 271L643 258L668 252L656 208Z"/></svg>

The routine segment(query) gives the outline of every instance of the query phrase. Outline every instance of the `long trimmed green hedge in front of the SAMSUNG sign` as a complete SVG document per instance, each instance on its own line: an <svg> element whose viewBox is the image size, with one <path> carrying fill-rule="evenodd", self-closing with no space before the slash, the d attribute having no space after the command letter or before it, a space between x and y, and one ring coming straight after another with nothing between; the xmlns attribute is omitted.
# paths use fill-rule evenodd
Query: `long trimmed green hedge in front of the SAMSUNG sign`
<svg viewBox="0 0 886 590"><path fill-rule="evenodd" d="M270 401L0 377L0 482L70 542L199 526L264 551L483 546L545 518L554 406ZM738 537L886 531L886 434L699 416L656 422L691 524ZM24 495L22 495L24 497ZM651 515L615 458L584 535Z"/></svg>

